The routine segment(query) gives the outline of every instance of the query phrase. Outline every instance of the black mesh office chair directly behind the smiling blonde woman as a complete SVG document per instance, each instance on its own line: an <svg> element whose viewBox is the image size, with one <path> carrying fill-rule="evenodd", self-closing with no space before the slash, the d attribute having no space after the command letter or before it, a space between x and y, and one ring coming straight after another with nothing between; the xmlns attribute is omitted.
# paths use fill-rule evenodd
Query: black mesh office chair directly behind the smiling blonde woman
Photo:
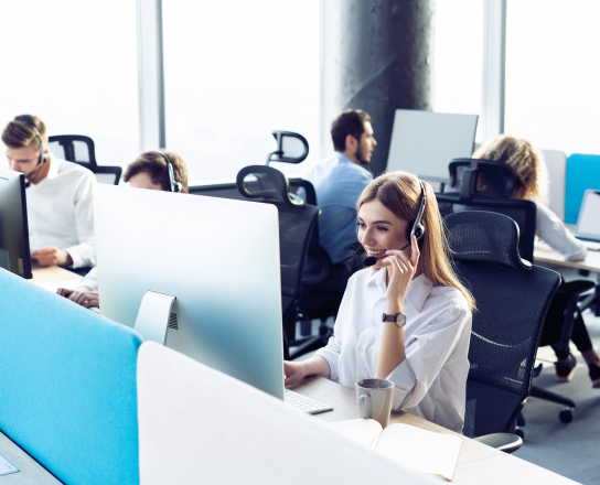
<svg viewBox="0 0 600 485"><path fill-rule="evenodd" d="M513 433L529 396L537 345L560 274L521 258L518 227L502 214L465 211L447 216L444 224L458 276L478 308L463 433L494 445L494 436L485 435Z"/></svg>

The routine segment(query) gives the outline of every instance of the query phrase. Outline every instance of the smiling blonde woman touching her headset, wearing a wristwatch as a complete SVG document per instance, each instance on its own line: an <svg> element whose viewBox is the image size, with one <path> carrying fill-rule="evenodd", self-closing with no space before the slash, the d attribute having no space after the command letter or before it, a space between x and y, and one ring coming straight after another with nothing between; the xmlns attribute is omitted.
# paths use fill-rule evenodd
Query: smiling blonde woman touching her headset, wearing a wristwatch
<svg viewBox="0 0 600 485"><path fill-rule="evenodd" d="M408 240L424 203L424 235ZM384 174L363 191L357 211L358 241L383 258L350 279L328 345L285 362L286 385L309 375L351 388L389 379L393 409L461 432L475 302L448 259L433 191L409 173Z"/></svg>

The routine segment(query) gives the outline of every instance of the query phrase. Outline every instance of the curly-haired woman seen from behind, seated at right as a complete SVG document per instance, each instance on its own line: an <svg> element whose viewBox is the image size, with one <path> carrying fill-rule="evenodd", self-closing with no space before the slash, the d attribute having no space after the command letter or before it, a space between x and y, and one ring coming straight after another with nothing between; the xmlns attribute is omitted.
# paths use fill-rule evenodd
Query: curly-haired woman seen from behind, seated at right
<svg viewBox="0 0 600 485"><path fill-rule="evenodd" d="M473 158L492 160L510 165L515 172L513 198L529 200L535 203L536 236L546 241L569 261L582 261L586 259L588 249L583 242L577 239L556 214L546 206L548 174L546 163L539 150L533 147L527 140L501 134L484 143L475 151ZM478 188L484 190L489 183L485 180L485 174L482 174L478 180ZM553 345L560 341L566 306L566 297L557 293L546 315L539 342L540 346ZM574 323L571 341L588 364L592 387L600 388L600 357L593 349L588 330L579 313ZM577 359L567 351L558 348L554 348L554 351L558 359L555 364L556 379L558 381L570 380L577 369Z"/></svg>

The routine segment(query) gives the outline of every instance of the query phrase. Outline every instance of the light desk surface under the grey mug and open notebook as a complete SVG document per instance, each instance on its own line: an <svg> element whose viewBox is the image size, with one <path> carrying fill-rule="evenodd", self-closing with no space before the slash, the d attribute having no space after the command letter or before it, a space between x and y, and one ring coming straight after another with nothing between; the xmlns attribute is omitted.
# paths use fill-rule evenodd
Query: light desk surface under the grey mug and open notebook
<svg viewBox="0 0 600 485"><path fill-rule="evenodd" d="M354 389L341 386L323 377L304 378L302 382L290 387L290 389L333 407L333 411L312 417L320 421L334 422L357 419L360 417L358 407L356 405L356 392ZM458 435L462 440L462 450L454 473L454 479L452 481L454 484L576 483L548 470L542 468L540 466L497 451L408 412L393 412L389 423L411 424L436 433ZM440 483L442 482L447 483L440 477Z"/></svg>

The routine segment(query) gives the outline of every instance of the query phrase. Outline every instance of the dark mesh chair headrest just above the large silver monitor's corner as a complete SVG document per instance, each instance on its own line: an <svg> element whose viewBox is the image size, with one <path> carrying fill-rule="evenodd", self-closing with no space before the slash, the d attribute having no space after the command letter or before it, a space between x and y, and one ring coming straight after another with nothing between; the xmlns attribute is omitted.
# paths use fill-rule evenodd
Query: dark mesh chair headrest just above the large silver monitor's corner
<svg viewBox="0 0 600 485"><path fill-rule="evenodd" d="M236 185L239 193L248 198L280 201L291 207L304 205L304 201L290 193L288 177L272 166L245 166L237 174Z"/></svg>

